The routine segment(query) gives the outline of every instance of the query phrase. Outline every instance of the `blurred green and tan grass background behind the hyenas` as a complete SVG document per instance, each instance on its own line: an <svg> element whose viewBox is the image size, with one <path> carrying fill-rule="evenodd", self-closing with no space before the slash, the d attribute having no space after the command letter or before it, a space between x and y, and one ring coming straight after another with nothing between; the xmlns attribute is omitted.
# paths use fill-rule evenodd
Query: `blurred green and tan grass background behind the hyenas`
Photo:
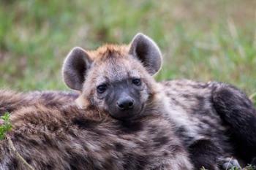
<svg viewBox="0 0 256 170"><path fill-rule="evenodd" d="M129 43L139 31L164 55L157 80L217 80L256 96L255 0L0 0L0 88L67 90L72 47Z"/></svg>

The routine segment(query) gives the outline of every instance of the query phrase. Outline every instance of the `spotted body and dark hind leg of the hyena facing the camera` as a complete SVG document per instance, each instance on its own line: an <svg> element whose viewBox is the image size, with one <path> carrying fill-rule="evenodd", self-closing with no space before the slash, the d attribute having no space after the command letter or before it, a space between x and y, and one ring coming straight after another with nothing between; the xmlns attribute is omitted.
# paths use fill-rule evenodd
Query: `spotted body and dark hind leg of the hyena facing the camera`
<svg viewBox="0 0 256 170"><path fill-rule="evenodd" d="M223 82L161 84L169 98L168 117L195 166L210 166L216 155L232 155L245 165L255 165L256 109L245 93Z"/></svg>

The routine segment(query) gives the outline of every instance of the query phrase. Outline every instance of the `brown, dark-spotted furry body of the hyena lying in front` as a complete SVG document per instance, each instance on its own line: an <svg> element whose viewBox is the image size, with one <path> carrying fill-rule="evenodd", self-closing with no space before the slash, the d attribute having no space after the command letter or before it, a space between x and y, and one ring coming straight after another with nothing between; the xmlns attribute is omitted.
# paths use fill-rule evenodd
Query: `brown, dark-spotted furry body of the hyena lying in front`
<svg viewBox="0 0 256 170"><path fill-rule="evenodd" d="M34 96L30 93L27 98L31 95ZM7 96L0 94L1 102L12 101ZM40 95L37 100L42 101L45 96L74 100L72 94L53 92ZM63 98L54 100L63 105ZM8 135L34 169L193 169L187 151L171 130L173 125L157 110L131 123L113 119L94 107L52 107L45 102L48 103L44 100L33 106L16 105L18 109L11 115L12 131ZM0 141L0 169L25 169L6 140Z"/></svg>

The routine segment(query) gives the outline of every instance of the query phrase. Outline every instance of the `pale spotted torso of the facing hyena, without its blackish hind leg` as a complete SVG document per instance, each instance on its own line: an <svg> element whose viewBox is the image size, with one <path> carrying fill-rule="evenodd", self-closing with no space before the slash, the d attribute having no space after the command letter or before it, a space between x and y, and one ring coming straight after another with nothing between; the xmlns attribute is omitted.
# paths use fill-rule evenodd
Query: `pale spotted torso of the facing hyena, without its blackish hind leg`
<svg viewBox="0 0 256 170"><path fill-rule="evenodd" d="M223 158L234 156L228 127L212 102L218 82L173 80L162 85L170 106L167 117L176 125L176 134L189 150L196 169L202 165L218 169L216 165L222 165Z"/></svg>

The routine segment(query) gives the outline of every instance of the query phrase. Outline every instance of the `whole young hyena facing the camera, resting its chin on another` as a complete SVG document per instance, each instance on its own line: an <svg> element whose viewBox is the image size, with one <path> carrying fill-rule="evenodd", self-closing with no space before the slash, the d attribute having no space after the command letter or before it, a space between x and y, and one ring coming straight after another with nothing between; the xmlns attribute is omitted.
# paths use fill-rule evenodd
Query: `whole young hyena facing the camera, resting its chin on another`
<svg viewBox="0 0 256 170"><path fill-rule="evenodd" d="M80 91L76 103L82 109L94 106L124 123L151 115L151 111L161 112L176 126L176 134L189 150L195 169L227 169L230 164L226 161L236 153L236 147L255 150L255 143L251 142L256 142L252 136L256 133L256 113L243 93L219 82L156 82L152 75L161 65L157 44L148 36L137 34L129 45L105 45L97 50L73 48L64 61L63 77L69 88ZM225 101L228 97L222 90L238 98ZM244 115L238 115L240 112ZM248 119L244 120L244 116ZM252 140L243 125L250 133L254 131L249 135ZM229 134L230 129L234 134ZM231 141L240 134L244 139ZM249 158L242 155L246 161L255 155L248 152ZM230 162L239 167L236 160Z"/></svg>

